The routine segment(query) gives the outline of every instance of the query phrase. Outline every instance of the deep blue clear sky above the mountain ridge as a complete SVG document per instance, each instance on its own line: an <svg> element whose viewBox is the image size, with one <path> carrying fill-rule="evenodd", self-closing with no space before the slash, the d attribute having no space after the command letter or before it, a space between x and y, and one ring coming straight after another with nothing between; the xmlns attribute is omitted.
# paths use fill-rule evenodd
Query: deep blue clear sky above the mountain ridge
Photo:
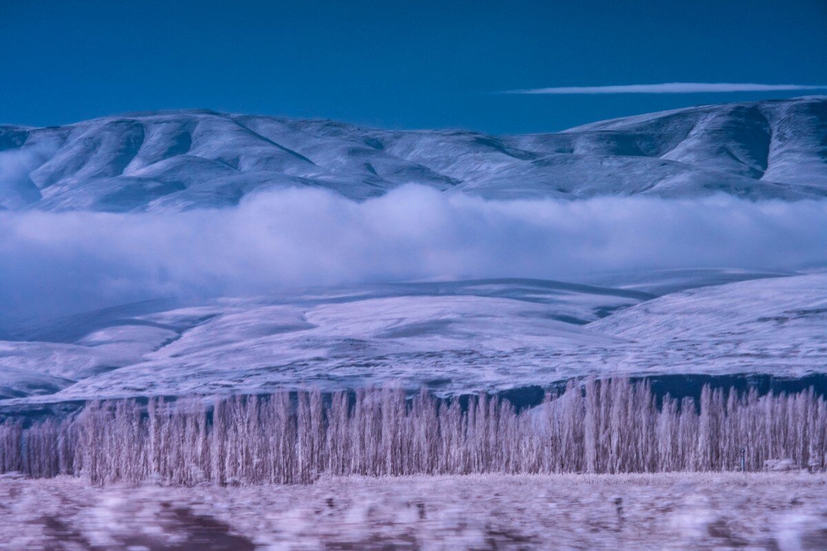
<svg viewBox="0 0 827 551"><path fill-rule="evenodd" d="M390 128L554 131L806 93L490 92L825 84L827 2L0 0L0 44L0 122L205 107Z"/></svg>

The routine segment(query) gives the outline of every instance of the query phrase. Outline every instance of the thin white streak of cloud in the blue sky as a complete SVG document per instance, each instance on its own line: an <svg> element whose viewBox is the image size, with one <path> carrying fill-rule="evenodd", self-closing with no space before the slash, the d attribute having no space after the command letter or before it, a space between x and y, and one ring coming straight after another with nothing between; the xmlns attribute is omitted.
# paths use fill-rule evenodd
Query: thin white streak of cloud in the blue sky
<svg viewBox="0 0 827 551"><path fill-rule="evenodd" d="M559 88L528 88L502 93L521 94L606 94L606 93L717 93L717 92L781 92L791 90L827 90L825 85L756 84L756 83L662 83L621 84L618 86L565 86Z"/></svg>

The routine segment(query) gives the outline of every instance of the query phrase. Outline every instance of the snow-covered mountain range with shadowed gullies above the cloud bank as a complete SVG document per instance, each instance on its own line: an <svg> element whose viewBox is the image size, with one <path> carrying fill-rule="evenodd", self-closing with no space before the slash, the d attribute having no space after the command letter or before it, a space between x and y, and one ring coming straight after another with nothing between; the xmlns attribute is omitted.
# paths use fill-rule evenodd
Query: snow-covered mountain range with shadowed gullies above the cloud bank
<svg viewBox="0 0 827 551"><path fill-rule="evenodd" d="M728 103L537 135L382 131L208 111L0 126L0 209L176 211L281 186L405 183L490 198L827 197L827 97Z"/></svg>

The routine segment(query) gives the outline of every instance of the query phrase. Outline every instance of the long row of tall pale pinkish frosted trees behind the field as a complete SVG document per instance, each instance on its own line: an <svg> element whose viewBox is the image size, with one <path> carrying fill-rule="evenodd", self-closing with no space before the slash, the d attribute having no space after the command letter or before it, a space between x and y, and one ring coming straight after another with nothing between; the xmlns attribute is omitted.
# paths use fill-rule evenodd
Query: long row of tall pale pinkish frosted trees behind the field
<svg viewBox="0 0 827 551"><path fill-rule="evenodd" d="M312 482L332 475L827 470L827 403L704 387L700 402L647 382L588 379L514 411L396 388L269 397L93 401L79 414L0 425L0 471L95 484Z"/></svg>

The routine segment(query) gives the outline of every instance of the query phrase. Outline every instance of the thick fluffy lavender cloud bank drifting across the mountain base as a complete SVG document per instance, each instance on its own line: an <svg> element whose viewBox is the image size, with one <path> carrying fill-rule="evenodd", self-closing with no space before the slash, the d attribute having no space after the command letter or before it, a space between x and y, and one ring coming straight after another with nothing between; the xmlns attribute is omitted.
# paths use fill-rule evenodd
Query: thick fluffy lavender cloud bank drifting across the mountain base
<svg viewBox="0 0 827 551"><path fill-rule="evenodd" d="M827 265L827 202L288 189L217 211L0 212L0 259L0 306L17 316L414 278L793 269Z"/></svg>

